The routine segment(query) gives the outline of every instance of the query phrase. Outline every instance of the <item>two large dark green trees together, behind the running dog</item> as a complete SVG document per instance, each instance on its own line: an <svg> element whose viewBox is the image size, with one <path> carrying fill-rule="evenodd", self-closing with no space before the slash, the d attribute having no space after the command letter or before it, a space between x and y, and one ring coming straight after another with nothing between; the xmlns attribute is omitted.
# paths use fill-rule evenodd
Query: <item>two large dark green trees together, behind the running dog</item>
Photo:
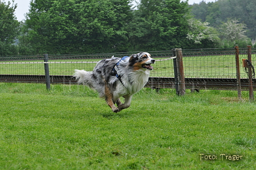
<svg viewBox="0 0 256 170"><path fill-rule="evenodd" d="M22 48L35 53L169 50L186 47L189 5L179 0L33 0Z"/></svg>

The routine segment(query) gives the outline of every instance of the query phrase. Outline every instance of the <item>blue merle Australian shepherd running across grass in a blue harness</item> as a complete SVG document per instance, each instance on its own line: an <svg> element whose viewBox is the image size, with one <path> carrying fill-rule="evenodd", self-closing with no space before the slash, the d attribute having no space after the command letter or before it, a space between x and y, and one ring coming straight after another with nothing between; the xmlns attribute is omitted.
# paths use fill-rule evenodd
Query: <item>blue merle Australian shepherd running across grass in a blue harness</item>
<svg viewBox="0 0 256 170"><path fill-rule="evenodd" d="M74 77L79 83L96 90L99 97L105 98L113 112L119 112L128 108L132 96L145 86L149 72L153 70L150 64L154 63L148 52L123 58L112 56L111 59L99 61L93 71L75 70ZM125 103L121 103L121 96L125 98Z"/></svg>

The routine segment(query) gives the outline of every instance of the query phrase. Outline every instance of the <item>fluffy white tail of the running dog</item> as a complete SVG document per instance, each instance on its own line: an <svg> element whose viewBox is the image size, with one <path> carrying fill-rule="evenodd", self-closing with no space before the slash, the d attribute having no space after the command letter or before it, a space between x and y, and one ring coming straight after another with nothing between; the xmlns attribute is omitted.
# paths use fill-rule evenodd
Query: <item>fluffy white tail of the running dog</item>
<svg viewBox="0 0 256 170"><path fill-rule="evenodd" d="M86 84L87 86L90 86L91 82L94 82L94 80L91 78L93 75L92 71L85 71L85 70L75 70L74 77L76 80L78 80L78 83Z"/></svg>

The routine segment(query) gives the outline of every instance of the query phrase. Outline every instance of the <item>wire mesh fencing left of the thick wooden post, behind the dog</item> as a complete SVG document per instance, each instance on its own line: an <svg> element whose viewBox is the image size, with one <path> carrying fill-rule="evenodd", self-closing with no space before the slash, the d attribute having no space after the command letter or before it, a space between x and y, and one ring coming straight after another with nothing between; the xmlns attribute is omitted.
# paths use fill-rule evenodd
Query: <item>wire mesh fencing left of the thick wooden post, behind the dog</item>
<svg viewBox="0 0 256 170"><path fill-rule="evenodd" d="M111 58L111 56L122 58L131 53L94 54L94 55L49 55L50 75L73 75L75 69L93 71L99 60ZM171 51L153 51L152 58L157 59L151 76L173 77L173 60ZM18 56L0 58L0 74L2 75L44 75L44 63L42 56Z"/></svg>

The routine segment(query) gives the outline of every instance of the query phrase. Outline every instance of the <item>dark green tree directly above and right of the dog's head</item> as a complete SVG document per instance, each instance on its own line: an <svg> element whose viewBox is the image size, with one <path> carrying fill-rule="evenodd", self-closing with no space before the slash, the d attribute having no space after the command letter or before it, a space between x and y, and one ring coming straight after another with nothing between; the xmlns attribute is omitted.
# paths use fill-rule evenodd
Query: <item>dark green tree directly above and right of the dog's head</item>
<svg viewBox="0 0 256 170"><path fill-rule="evenodd" d="M141 0L131 22L129 41L134 44L131 50L169 50L184 47L188 31L187 1Z"/></svg>

